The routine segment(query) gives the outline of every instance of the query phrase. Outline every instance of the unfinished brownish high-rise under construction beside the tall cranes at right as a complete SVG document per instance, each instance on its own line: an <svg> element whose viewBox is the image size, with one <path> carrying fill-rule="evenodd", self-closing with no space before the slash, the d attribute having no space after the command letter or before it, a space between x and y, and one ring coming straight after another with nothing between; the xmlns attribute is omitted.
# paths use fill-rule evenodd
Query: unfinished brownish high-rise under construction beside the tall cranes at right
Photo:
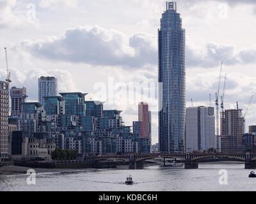
<svg viewBox="0 0 256 204"><path fill-rule="evenodd" d="M242 110L232 109L221 112L221 152L239 152L243 150Z"/></svg>

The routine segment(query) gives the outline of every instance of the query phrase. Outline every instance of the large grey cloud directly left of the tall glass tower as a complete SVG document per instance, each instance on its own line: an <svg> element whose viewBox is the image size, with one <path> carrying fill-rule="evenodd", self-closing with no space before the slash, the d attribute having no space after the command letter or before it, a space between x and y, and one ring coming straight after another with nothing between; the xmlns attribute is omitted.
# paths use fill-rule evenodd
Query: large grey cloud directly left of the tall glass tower
<svg viewBox="0 0 256 204"><path fill-rule="evenodd" d="M103 66L140 67L157 64L157 49L151 36L124 34L97 25L68 29L63 36L24 41L31 54L53 61L70 61Z"/></svg>

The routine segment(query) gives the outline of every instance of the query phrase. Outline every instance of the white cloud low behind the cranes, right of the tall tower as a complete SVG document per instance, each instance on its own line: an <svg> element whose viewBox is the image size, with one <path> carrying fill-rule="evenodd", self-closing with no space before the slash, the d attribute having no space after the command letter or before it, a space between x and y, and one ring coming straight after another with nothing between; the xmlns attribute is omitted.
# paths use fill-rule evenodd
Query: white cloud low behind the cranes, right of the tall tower
<svg viewBox="0 0 256 204"><path fill-rule="evenodd" d="M198 73L187 80L187 99L193 101L209 101L209 93L215 99L218 89L218 73ZM223 92L224 75L221 76L220 96ZM227 103L248 103L248 98L256 92L256 77L247 77L241 73L230 72L227 74L225 101ZM255 102L256 103L256 102Z"/></svg>

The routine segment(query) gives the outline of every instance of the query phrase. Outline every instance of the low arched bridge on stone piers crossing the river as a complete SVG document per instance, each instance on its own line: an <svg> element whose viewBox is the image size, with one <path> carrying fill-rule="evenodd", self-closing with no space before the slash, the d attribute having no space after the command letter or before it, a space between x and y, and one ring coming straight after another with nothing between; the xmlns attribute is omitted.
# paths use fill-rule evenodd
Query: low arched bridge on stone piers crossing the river
<svg viewBox="0 0 256 204"><path fill-rule="evenodd" d="M244 161L244 168L255 169L256 168L256 154L255 153L156 153L156 154L106 154L100 156L86 156L86 160L90 161L104 161L108 159L122 160L129 162L129 169L143 168L143 161L147 159L162 158L165 166L165 159L180 159L185 165L186 169L198 168L198 162L200 159L218 157L218 158L230 158Z"/></svg>

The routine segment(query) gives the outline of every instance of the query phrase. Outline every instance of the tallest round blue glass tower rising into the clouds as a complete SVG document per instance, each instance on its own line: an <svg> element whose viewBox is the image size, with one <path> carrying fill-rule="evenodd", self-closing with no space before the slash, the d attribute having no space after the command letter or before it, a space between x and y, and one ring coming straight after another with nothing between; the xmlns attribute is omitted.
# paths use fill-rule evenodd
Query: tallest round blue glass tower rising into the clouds
<svg viewBox="0 0 256 204"><path fill-rule="evenodd" d="M158 30L159 151L184 152L186 115L185 30L177 4L166 2Z"/></svg>

